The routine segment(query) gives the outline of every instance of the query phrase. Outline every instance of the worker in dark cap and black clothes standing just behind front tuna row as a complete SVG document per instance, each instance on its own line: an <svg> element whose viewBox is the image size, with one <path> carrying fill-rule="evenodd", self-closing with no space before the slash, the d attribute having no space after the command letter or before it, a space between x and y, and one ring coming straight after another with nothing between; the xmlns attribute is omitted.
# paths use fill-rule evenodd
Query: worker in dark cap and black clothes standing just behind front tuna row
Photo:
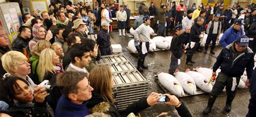
<svg viewBox="0 0 256 117"><path fill-rule="evenodd" d="M174 30L175 35L172 37L172 42L171 42L171 63L170 63L170 68L169 68L169 74L173 75L175 70L177 69L179 65L179 59L183 55L183 49L186 49L187 46L184 45L184 40L186 39L186 35L183 30L183 27L181 24L177 25ZM189 30L186 30L188 32Z"/></svg>

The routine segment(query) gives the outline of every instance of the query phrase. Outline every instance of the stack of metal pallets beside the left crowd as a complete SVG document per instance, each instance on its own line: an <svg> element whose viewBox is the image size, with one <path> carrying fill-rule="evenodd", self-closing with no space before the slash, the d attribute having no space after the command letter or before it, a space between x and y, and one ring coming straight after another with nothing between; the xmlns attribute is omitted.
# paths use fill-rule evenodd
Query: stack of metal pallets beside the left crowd
<svg viewBox="0 0 256 117"><path fill-rule="evenodd" d="M101 56L97 65L108 65L113 72L115 104L119 111L125 110L131 103L147 96L146 78L122 54Z"/></svg>

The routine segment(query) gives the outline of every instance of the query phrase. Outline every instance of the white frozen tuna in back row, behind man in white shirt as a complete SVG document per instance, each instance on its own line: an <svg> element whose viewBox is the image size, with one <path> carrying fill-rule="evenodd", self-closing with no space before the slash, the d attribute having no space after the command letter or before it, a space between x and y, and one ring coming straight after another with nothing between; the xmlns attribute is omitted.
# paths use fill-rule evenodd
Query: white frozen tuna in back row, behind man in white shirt
<svg viewBox="0 0 256 117"><path fill-rule="evenodd" d="M150 39L149 41L150 43L149 52L156 51L156 48L164 49L164 50L170 49L171 41L172 41L172 36L167 36L167 37L156 36L153 39ZM134 39L129 41L127 49L129 49L129 51L132 53L138 53L137 49L134 46Z"/></svg>

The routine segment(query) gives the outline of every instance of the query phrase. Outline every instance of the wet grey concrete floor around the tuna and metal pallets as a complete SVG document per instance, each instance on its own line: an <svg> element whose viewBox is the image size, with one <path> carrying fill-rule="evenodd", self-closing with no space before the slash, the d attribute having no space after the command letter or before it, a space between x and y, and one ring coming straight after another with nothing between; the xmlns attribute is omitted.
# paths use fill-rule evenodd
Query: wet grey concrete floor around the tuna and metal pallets
<svg viewBox="0 0 256 117"><path fill-rule="evenodd" d="M112 44L121 44L123 54L131 61L131 63L137 67L137 55L129 53L127 50L128 42L133 39L128 36L119 36L118 32L111 32L110 38ZM181 64L179 69L181 71L185 71L187 68L196 68L196 66L202 66L205 68L212 68L214 62L218 54L220 53L222 47L216 47L215 55L209 53L204 54L203 52L196 52L193 56L192 60L196 62L193 66L185 65L186 55L183 55L181 58ZM170 53L171 51L157 51L148 53L145 63L149 66L148 70L145 70L142 74L147 78L149 82L148 86L148 94L151 92L162 93L164 94L164 90L160 88L158 85L158 80L155 80L154 75L163 71L168 73L169 65L170 65ZM200 94L200 95L192 95L189 97L181 97L179 100L187 106L188 110L191 112L192 116L246 116L248 112L247 106L249 105L250 93L249 89L238 89L237 95L234 98L232 110L227 113L224 111L225 103L226 103L226 92L220 94L214 103L212 112L209 115L203 115L202 112L204 108L207 106L209 94ZM157 116L161 114L161 112L171 111L172 116L178 116L177 111L174 107L164 104L158 104L147 108L146 110L141 112L141 116L150 117ZM256 116L256 115L255 115Z"/></svg>

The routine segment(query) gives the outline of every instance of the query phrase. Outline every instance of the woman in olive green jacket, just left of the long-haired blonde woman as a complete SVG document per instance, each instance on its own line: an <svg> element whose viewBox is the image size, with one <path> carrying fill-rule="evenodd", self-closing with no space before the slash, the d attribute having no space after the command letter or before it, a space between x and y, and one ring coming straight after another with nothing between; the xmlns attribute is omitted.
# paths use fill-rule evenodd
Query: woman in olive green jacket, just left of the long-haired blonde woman
<svg viewBox="0 0 256 117"><path fill-rule="evenodd" d="M31 52L32 56L30 57L30 64L32 64L32 79L36 84L39 84L41 81L39 81L39 75L40 75L40 70L38 69L38 61L39 61L39 56L40 53L43 51L45 48L51 47L51 43L49 43L48 40L40 40L38 43L36 43L33 51Z"/></svg>

